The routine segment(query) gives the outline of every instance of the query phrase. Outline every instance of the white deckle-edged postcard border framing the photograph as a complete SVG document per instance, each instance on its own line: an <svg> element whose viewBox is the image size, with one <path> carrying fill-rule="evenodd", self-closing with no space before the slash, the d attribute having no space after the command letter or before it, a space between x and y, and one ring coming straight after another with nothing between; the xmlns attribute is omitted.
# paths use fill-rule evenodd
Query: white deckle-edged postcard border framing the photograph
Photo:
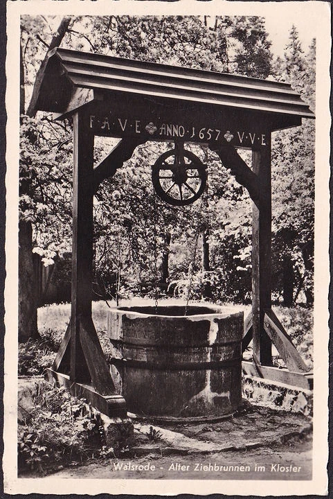
<svg viewBox="0 0 333 499"><path fill-rule="evenodd" d="M110 493L206 495L325 495L327 493L328 430L328 287L330 270L329 179L330 179L330 5L321 1L251 2L180 0L178 2L98 0L8 1L7 46L7 211L5 288L5 426L3 471L6 493ZM314 448L313 479L310 481L254 480L59 480L17 478L17 224L19 157L19 16L37 15L265 15L271 9L290 10L309 16L317 39L316 70L316 221L314 309Z"/></svg>

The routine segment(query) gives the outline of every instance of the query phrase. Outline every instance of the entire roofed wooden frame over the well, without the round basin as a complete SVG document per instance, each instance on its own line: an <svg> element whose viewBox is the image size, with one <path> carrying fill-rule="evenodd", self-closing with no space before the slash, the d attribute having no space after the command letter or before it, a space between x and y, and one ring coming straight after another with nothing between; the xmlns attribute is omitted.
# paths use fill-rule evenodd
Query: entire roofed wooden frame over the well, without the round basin
<svg viewBox="0 0 333 499"><path fill-rule="evenodd" d="M281 82L54 49L35 108L73 118L71 321L48 378L101 412L125 416L126 401L91 319L93 195L136 146L174 141L205 143L253 202L252 310L242 340L244 349L253 339L253 363L243 362L243 371L309 387L307 367L271 310L271 133L314 117L300 96ZM95 135L121 139L99 164L93 162ZM252 150L251 166L237 148ZM272 342L287 369L272 367Z"/></svg>

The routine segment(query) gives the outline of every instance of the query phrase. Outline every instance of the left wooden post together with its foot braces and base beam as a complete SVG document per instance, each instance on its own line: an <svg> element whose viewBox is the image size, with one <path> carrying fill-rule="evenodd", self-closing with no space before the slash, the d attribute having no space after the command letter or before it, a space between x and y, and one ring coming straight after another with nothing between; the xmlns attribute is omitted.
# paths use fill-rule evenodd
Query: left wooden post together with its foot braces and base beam
<svg viewBox="0 0 333 499"><path fill-rule="evenodd" d="M93 133L84 110L73 116L73 253L71 322L46 379L108 416L126 417L91 318L93 278ZM69 375L67 374L69 372Z"/></svg>

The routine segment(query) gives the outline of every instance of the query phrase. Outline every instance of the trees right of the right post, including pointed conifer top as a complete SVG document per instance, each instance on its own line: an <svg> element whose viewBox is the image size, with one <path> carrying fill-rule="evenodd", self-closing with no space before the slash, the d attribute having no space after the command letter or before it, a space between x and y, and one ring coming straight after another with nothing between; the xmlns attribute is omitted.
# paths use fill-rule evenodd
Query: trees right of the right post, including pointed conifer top
<svg viewBox="0 0 333 499"><path fill-rule="evenodd" d="M293 26L285 60L277 71L290 82L310 107L315 98L315 42L306 56ZM273 265L276 297L283 286L279 275L292 286L294 304L300 291L308 305L313 303L314 258L314 121L305 119L302 127L276 132L272 143ZM290 265L285 265L289 260ZM285 271L284 271L285 265ZM288 269L291 269L291 273ZM285 301L285 304L286 301Z"/></svg>

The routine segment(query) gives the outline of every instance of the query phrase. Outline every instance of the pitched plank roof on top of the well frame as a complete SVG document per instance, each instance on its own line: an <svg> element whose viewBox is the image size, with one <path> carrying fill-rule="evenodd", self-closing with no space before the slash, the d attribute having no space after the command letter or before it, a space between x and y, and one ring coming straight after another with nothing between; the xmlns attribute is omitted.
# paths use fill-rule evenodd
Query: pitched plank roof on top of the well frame
<svg viewBox="0 0 333 499"><path fill-rule="evenodd" d="M314 117L287 83L54 49L49 54L37 109L63 112L73 87Z"/></svg>

